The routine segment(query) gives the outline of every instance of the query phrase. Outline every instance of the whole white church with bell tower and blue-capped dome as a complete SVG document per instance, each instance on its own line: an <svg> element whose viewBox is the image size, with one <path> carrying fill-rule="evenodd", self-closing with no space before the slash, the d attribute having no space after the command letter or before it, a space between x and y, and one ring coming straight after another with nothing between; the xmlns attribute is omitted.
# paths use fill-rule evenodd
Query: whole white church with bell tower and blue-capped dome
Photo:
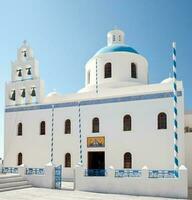
<svg viewBox="0 0 192 200"><path fill-rule="evenodd" d="M173 169L173 79L150 84L147 59L125 44L121 30L108 32L85 77L77 93L46 96L39 62L23 43L5 89L4 165L52 161L66 180L78 163L89 170ZM178 161L192 186L192 112L185 112L182 81L177 98Z"/></svg>

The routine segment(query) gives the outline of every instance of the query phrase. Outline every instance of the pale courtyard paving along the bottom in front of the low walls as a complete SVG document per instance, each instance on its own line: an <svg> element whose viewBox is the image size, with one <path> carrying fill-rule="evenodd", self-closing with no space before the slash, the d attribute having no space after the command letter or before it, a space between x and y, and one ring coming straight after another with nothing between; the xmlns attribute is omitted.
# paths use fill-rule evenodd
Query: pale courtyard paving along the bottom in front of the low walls
<svg viewBox="0 0 192 200"><path fill-rule="evenodd" d="M168 200L170 198L28 188L1 192L0 200ZM173 199L170 199L173 200Z"/></svg>

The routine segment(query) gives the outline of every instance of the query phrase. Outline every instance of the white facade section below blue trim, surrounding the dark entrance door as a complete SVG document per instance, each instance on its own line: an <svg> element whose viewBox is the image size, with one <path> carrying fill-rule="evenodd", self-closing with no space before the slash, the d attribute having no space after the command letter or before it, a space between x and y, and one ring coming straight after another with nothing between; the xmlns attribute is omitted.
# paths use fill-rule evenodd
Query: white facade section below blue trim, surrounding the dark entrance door
<svg viewBox="0 0 192 200"><path fill-rule="evenodd" d="M181 99L179 100L182 101ZM179 103L180 103L179 102ZM131 152L133 168L140 169L147 165L150 169L172 169L174 164L173 151L173 112L172 99L132 101L117 104L101 104L83 106L82 133L84 167L87 167L88 151L105 151L106 168L114 166L123 168L123 155ZM157 106L158 105L158 106ZM179 159L184 164L183 112L179 113ZM168 128L157 129L157 115L166 112ZM122 121L125 114L132 116L132 131L124 132ZM100 119L100 133L91 133L94 117ZM105 136L105 148L87 148L88 136Z"/></svg>

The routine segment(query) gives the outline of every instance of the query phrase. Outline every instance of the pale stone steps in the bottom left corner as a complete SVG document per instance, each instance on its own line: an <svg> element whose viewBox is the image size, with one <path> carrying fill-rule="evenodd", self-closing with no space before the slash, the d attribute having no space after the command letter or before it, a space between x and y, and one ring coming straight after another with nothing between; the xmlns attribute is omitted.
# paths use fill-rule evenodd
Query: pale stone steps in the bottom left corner
<svg viewBox="0 0 192 200"><path fill-rule="evenodd" d="M0 175L0 192L30 188L32 185L17 174Z"/></svg>

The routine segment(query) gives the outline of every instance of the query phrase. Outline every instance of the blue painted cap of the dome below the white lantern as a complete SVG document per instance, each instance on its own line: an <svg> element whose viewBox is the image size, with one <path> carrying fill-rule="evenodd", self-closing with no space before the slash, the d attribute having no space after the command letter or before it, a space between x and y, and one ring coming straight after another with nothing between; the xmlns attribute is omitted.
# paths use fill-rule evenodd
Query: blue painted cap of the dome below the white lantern
<svg viewBox="0 0 192 200"><path fill-rule="evenodd" d="M115 44L115 45L103 47L95 55L99 55L99 54L102 54L102 53L111 53L111 52L129 52L129 53L139 54L132 47L129 47L129 46L126 46L126 45Z"/></svg>

